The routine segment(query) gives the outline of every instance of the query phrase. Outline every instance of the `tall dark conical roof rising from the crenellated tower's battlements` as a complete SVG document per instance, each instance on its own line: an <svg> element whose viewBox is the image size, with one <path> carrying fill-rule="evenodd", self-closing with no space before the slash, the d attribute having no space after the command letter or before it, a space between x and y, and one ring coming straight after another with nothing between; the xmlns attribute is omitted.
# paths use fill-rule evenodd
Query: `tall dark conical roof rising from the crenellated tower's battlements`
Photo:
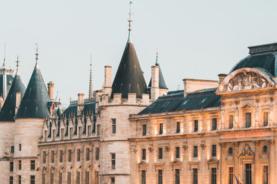
<svg viewBox="0 0 277 184"><path fill-rule="evenodd" d="M128 93L136 93L137 98L142 98L146 93L147 85L139 65L139 59L134 50L134 44L128 39L121 58L114 83L111 86L111 99L115 93L121 93L122 98L127 98Z"/></svg>

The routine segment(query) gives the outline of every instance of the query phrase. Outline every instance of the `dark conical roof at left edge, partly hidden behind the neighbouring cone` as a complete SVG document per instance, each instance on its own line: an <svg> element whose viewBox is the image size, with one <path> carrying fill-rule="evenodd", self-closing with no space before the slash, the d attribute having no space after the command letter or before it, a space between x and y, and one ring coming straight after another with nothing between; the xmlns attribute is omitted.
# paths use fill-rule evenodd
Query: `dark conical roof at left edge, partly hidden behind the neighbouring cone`
<svg viewBox="0 0 277 184"><path fill-rule="evenodd" d="M21 99L25 93L25 86L21 81L18 74L15 75L15 79L12 82L10 91L6 97L6 101L3 104L3 108L0 112L0 121L15 121L15 103L16 103L16 93L21 92Z"/></svg>

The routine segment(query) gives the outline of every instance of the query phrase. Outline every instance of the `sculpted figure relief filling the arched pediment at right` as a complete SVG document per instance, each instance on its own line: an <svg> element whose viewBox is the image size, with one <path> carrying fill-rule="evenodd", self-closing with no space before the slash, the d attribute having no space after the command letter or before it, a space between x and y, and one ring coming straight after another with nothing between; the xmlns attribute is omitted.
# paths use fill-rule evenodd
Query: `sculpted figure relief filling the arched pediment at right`
<svg viewBox="0 0 277 184"><path fill-rule="evenodd" d="M233 77L226 85L226 91L238 91L238 90L251 90L256 88L267 88L270 83L263 78L258 76L255 72L243 71L238 76Z"/></svg>

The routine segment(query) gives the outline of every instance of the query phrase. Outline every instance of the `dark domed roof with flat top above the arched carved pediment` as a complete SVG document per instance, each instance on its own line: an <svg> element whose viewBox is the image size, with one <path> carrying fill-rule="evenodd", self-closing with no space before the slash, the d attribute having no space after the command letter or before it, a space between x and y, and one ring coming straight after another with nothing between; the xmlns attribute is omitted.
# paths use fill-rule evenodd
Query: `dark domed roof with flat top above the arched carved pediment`
<svg viewBox="0 0 277 184"><path fill-rule="evenodd" d="M262 68L277 76L277 43L249 47L249 56L240 60L229 74L240 68Z"/></svg>

